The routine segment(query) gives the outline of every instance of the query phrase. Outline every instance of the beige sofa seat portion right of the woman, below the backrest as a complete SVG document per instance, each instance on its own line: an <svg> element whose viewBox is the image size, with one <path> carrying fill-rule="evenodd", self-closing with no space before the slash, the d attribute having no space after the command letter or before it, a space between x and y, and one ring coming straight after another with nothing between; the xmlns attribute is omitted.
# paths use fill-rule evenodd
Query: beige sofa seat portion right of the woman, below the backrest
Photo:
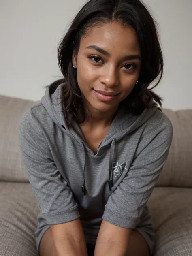
<svg viewBox="0 0 192 256"><path fill-rule="evenodd" d="M192 188L154 188L148 201L155 256L192 255Z"/></svg>

